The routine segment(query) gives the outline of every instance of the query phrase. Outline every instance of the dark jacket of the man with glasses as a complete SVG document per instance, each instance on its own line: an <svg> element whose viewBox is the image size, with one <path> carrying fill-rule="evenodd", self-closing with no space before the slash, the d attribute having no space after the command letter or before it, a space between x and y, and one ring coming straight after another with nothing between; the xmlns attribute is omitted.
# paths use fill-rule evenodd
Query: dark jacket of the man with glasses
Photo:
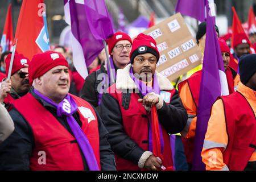
<svg viewBox="0 0 256 182"><path fill-rule="evenodd" d="M117 70L117 68L115 68L115 70ZM81 90L81 98L93 105L98 113L100 113L100 106L98 106L98 94L100 90L98 90L98 85L102 82L102 76L100 76L102 73L108 76L104 64L101 64L101 68L99 70L90 73L90 75L86 77ZM102 84L102 86L103 85L104 84ZM107 89L110 85L110 82L106 83L104 90Z"/></svg>

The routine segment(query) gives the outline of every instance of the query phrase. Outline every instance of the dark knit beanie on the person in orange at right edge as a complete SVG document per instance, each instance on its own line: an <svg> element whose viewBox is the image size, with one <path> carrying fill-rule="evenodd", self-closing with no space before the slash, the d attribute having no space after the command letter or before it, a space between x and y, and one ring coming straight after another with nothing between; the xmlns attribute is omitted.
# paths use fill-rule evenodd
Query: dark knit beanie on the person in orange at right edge
<svg viewBox="0 0 256 182"><path fill-rule="evenodd" d="M238 65L240 80L245 85L256 72L256 54L242 55Z"/></svg>

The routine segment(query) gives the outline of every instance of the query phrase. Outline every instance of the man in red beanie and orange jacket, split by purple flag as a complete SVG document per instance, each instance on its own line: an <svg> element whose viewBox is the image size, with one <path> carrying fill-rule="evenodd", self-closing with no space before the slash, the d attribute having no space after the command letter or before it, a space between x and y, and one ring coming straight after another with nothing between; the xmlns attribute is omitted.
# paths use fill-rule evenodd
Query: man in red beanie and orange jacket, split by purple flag
<svg viewBox="0 0 256 182"><path fill-rule="evenodd" d="M238 82L240 81L240 76L236 73L236 71L228 66L230 61L230 49L226 44L225 40L218 39L218 42L220 44L222 59L226 71L229 93L231 94L236 91ZM185 154L187 156L187 162L190 168L192 166L193 160L193 146L196 131L197 107L199 104L201 74L202 71L198 71L187 80L180 82L178 85L181 101L183 102L183 105L188 113L187 126L181 132L181 135L184 137L183 143L185 148Z"/></svg>

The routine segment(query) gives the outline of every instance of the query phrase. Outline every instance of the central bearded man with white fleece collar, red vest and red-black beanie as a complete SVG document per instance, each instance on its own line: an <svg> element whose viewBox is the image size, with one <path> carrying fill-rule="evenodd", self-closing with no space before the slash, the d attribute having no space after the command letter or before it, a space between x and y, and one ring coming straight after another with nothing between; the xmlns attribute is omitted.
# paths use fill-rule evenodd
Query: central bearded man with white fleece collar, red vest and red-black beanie
<svg viewBox="0 0 256 182"><path fill-rule="evenodd" d="M158 59L155 40L139 34L131 64L118 69L117 81L103 94L101 117L118 170L173 169L169 134L183 129L187 113L174 86L156 72Z"/></svg>

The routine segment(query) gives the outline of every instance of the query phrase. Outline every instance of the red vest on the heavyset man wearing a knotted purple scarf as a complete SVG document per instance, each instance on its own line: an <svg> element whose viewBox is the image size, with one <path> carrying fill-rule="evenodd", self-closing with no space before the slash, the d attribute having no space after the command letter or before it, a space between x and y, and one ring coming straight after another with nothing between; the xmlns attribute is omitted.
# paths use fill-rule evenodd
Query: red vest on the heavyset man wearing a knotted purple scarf
<svg viewBox="0 0 256 182"><path fill-rule="evenodd" d="M79 97L71 96L78 107L82 106L90 109L94 118L96 118L88 123L88 119L77 109L82 130L93 148L100 168L100 139L96 113L88 102ZM29 123L34 135L35 147L30 157L31 170L84 170L82 153L78 143L75 142L75 137L32 94L28 93L26 96L14 100L11 104ZM46 154L46 164L39 164L40 151L44 151L44 154Z"/></svg>

